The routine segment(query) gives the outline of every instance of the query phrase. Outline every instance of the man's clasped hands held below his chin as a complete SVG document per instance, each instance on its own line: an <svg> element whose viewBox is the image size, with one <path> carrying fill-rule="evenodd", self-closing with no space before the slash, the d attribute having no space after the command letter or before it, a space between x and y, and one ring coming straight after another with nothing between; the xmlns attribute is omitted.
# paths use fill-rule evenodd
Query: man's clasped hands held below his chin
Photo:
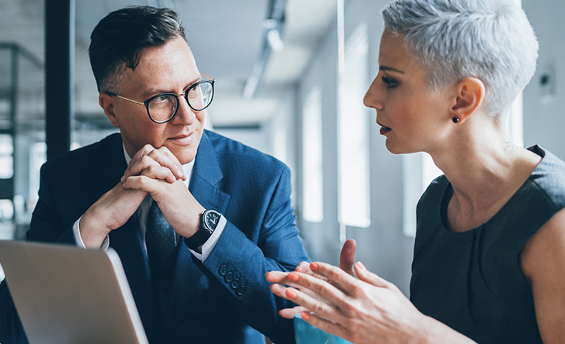
<svg viewBox="0 0 565 344"><path fill-rule="evenodd" d="M167 149L146 144L131 161L120 182L102 195L81 218L81 237L87 248L98 248L111 230L123 226L151 194L161 212L182 237L198 230L204 211L184 184L182 164Z"/></svg>

